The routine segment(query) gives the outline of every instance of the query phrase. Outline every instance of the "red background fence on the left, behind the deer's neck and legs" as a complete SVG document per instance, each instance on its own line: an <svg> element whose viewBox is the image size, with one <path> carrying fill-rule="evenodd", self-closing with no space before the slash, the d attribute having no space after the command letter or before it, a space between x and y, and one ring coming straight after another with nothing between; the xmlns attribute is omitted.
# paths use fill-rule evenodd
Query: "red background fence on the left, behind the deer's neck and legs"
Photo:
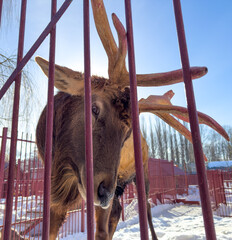
<svg viewBox="0 0 232 240"><path fill-rule="evenodd" d="M23 134L22 134L23 137ZM1 147L0 178L0 233L6 218L6 199L9 175L9 143L6 128L3 130ZM4 148L6 146L6 148ZM17 139L17 161L14 166L13 209L11 239L39 239L42 236L44 202L44 164L37 155L36 144L28 138ZM65 237L85 230L85 205L75 206L60 229ZM0 237L0 239L2 239Z"/></svg>

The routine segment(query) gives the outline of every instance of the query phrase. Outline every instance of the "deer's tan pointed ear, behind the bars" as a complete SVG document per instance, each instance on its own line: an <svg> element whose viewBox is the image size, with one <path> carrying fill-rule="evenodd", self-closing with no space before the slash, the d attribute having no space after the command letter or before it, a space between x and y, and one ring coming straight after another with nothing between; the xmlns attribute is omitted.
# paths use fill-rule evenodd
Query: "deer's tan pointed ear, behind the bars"
<svg viewBox="0 0 232 240"><path fill-rule="evenodd" d="M49 62L41 57L36 57L35 61L48 77ZM55 64L54 85L62 92L80 95L84 91L84 74Z"/></svg>

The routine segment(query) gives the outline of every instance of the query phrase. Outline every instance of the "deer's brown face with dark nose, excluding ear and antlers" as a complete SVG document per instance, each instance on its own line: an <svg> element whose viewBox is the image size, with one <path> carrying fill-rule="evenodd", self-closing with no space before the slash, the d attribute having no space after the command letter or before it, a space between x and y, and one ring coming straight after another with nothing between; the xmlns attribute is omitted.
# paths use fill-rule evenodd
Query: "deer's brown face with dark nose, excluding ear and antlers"
<svg viewBox="0 0 232 240"><path fill-rule="evenodd" d="M80 104L78 109L83 109ZM78 190L86 198L83 111L72 121L72 142L79 169ZM75 127L75 126L76 127ZM121 148L131 133L129 90L105 89L92 96L94 204L107 208L114 196Z"/></svg>

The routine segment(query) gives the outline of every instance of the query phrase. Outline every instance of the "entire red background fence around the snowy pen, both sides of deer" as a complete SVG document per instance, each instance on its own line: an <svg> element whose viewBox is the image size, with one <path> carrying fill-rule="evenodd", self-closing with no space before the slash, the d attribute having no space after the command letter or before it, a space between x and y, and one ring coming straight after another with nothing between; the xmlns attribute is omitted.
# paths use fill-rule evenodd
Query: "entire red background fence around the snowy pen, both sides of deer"
<svg viewBox="0 0 232 240"><path fill-rule="evenodd" d="M44 199L44 165L37 155L36 145L28 135L17 139L18 159L14 166L13 210L11 224L11 239L40 239L42 236L43 199ZM3 129L1 139L1 178L0 178L0 232L4 228L6 217L6 199L9 164L10 138ZM6 146L6 147L5 147ZM178 171L177 171L178 170ZM207 182L210 200L215 214L232 217L232 170L208 170ZM180 170L173 162L160 159L149 159L149 198L153 204L183 202L200 204L199 200L189 201L191 185L198 185L197 175ZM125 208L137 199L134 184L129 184L121 197L122 220L127 220ZM65 223L60 228L59 237L84 232L86 221L86 206L84 201L80 206L74 206L68 212Z"/></svg>

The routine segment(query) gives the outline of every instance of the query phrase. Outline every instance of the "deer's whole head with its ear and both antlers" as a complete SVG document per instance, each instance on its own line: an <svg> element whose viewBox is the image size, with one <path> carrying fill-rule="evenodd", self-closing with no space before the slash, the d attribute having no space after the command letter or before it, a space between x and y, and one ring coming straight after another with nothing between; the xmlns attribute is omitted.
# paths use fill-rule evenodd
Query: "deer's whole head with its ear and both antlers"
<svg viewBox="0 0 232 240"><path fill-rule="evenodd" d="M119 40L118 46L116 45L108 23L103 1L91 0L91 2L95 25L108 56L109 78L92 76L94 203L95 205L106 208L109 206L116 186L120 151L124 141L126 141L131 133L129 91L127 88L129 85L129 73L125 65L127 39L123 25L117 16L113 14L112 19ZM36 61L44 73L48 75L48 62L40 57L37 57ZM199 78L206 73L206 67L191 68L192 79ZM163 86L182 81L183 74L181 69L166 73L137 75L138 86ZM55 87L73 96L72 99L75 97L83 97L84 74L56 65ZM186 110L183 110L181 107L171 106L170 98L172 95L173 93L169 92L163 97L152 96L147 101L141 100L140 111L155 113L191 140L191 134L187 129L169 115L169 113L173 113L176 114L177 117L186 120ZM161 102L159 102L159 100L161 100ZM74 150L74 152L77 151L75 154L79 154L81 161L74 162L72 169L77 167L79 171L78 191L80 191L82 197L85 198L84 103L83 98L78 101L78 107L75 107L74 104L74 108L70 110L71 112L69 113L71 115L76 114L76 117L74 117L71 122L72 129L74 130L70 131L70 135L73 142L78 143L78 150ZM200 116L202 115L200 114ZM214 129L218 130L219 128L219 132L222 133L221 127L215 124L215 122L212 123L212 119L205 119L203 116L202 120L204 123L210 122L209 124L214 126ZM77 148L74 146L73 149ZM102 169L104 169L104 172L101 172Z"/></svg>

